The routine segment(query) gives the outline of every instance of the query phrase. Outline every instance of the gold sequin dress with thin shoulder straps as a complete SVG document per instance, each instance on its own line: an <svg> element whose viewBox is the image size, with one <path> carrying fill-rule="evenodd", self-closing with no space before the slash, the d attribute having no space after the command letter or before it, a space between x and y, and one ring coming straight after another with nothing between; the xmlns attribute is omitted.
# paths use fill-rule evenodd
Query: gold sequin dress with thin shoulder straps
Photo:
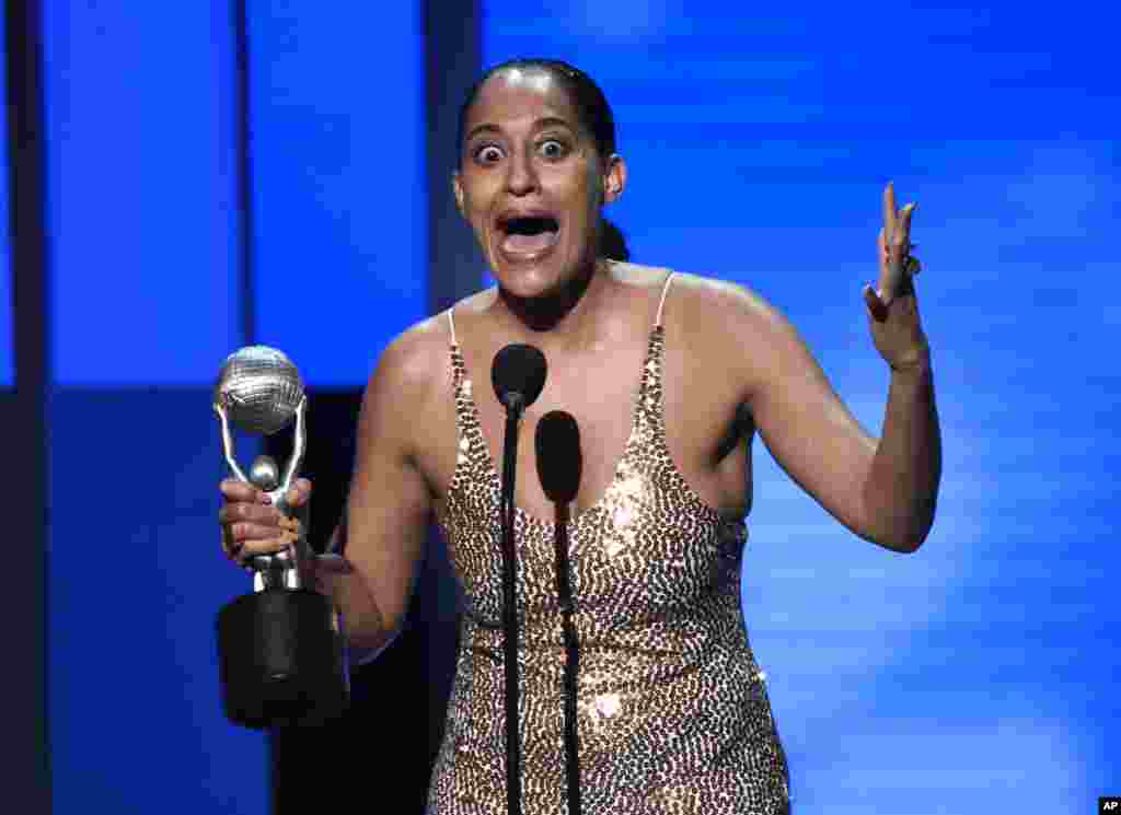
<svg viewBox="0 0 1121 815"><path fill-rule="evenodd" d="M671 460L663 348L659 307L630 439L606 493L568 527L583 815L788 813L786 756L740 607L747 530L706 505ZM451 357L460 448L438 521L465 606L428 813L502 815L500 479L454 324ZM519 508L515 532L522 813L565 815L554 527Z"/></svg>

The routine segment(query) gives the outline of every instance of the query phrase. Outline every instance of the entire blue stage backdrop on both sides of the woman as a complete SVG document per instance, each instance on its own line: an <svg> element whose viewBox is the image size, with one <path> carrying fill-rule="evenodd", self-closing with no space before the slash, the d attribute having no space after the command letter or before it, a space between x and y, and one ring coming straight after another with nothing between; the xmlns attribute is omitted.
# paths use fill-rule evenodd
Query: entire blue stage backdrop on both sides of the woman
<svg viewBox="0 0 1121 815"><path fill-rule="evenodd" d="M262 738L221 718L211 628L247 590L216 554L209 408L245 340L241 242L258 338L313 384L361 386L425 316L417 8L249 8L245 234L228 4L44 3L59 813L268 805ZM860 288L882 185L919 202L930 537L909 556L859 541L754 452L744 608L795 812L1093 812L1121 789L1112 9L484 10L487 63L559 56L606 91L631 175L609 216L634 259L759 291L873 433L888 377Z"/></svg>

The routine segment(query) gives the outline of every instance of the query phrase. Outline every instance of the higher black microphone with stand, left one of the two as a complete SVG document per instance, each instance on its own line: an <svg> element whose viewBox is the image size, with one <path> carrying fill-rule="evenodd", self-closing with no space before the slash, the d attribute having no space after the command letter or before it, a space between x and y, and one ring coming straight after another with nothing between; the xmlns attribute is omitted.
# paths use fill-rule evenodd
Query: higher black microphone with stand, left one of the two
<svg viewBox="0 0 1121 815"><path fill-rule="evenodd" d="M506 408L506 438L502 442L502 496L499 522L502 526L502 648L506 677L506 808L521 812L521 744L518 740L518 613L513 546L513 493L518 465L518 421L522 411L537 401L545 387L545 355L530 345L508 345L494 355L491 383Z"/></svg>

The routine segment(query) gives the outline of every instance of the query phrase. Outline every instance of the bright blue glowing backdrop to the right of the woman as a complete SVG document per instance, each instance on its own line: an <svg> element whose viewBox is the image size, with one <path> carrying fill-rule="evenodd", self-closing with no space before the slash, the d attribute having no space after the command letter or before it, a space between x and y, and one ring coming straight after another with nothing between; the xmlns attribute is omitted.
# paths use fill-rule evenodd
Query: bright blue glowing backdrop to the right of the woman
<svg viewBox="0 0 1121 815"><path fill-rule="evenodd" d="M488 64L604 87L634 260L778 306L873 433L860 291L884 182L919 202L945 440L925 546L855 538L756 443L743 605L807 815L1081 815L1121 784L1113 12L955 6L484 3Z"/></svg>

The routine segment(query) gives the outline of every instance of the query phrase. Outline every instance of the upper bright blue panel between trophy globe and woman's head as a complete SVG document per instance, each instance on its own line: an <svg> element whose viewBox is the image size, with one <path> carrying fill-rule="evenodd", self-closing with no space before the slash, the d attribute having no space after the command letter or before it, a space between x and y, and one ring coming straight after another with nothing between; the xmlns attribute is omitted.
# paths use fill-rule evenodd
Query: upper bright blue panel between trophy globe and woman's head
<svg viewBox="0 0 1121 815"><path fill-rule="evenodd" d="M419 9L249 9L257 340L313 386L362 386L427 316Z"/></svg>

